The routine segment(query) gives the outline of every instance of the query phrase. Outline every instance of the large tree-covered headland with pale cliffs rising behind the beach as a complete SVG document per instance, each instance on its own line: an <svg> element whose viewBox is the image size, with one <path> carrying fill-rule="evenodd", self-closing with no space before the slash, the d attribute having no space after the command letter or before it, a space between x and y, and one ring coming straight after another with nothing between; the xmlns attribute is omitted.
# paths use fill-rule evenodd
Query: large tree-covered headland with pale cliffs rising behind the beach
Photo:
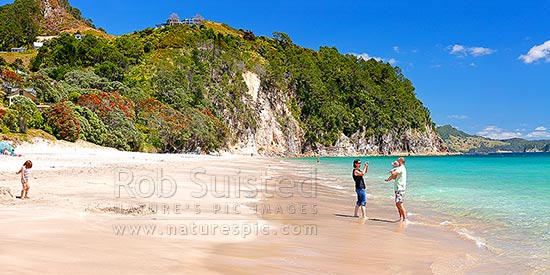
<svg viewBox="0 0 550 275"><path fill-rule="evenodd" d="M203 21L109 39L61 34L28 75L14 77L15 67L3 68L4 81L32 87L52 107L41 113L17 102L3 114L8 131L23 120L59 139L156 152L447 150L398 67L306 49L281 32L256 37Z"/></svg>

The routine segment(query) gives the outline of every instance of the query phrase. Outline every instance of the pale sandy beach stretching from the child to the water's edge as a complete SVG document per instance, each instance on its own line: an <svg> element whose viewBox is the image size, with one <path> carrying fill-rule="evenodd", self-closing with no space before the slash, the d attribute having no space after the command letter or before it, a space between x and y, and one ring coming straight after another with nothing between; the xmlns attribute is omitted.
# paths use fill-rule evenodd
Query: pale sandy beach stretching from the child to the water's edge
<svg viewBox="0 0 550 275"><path fill-rule="evenodd" d="M396 222L395 206L334 193L312 167L250 156L25 143L2 157L2 274L464 274L506 270L456 234ZM395 212L395 213L394 213ZM489 261L490 262L490 261ZM491 266L488 268L488 266ZM488 268L488 269L487 269Z"/></svg>

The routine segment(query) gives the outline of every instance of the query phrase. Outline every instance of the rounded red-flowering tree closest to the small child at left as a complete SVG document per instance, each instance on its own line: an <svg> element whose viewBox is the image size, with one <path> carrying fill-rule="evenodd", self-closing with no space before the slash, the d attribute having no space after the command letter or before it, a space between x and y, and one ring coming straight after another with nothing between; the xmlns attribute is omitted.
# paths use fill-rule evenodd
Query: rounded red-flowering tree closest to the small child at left
<svg viewBox="0 0 550 275"><path fill-rule="evenodd" d="M76 141L80 136L80 123L71 103L62 101L53 104L44 112L46 128L58 139Z"/></svg>

